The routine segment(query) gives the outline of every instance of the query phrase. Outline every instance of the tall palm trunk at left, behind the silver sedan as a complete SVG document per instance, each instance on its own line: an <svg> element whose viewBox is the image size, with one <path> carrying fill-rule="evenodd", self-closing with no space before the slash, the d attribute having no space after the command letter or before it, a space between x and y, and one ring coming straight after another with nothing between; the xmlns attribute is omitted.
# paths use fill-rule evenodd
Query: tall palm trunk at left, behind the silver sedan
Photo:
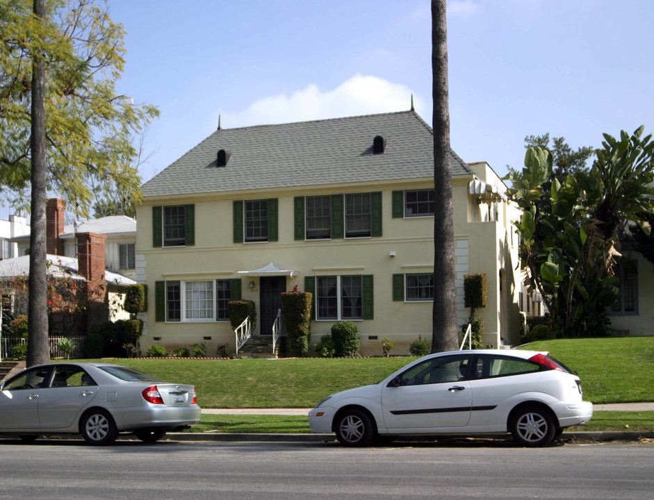
<svg viewBox="0 0 654 500"><path fill-rule="evenodd" d="M45 0L34 0L34 13L44 18ZM27 326L27 363L49 363L46 266L45 69L39 54L32 56L31 229Z"/></svg>

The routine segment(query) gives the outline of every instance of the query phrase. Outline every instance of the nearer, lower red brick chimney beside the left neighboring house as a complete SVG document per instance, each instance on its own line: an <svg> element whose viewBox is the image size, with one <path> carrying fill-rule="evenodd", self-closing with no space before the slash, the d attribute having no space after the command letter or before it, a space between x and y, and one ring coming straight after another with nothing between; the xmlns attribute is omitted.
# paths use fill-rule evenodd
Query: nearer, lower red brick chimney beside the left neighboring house
<svg viewBox="0 0 654 500"><path fill-rule="evenodd" d="M77 262L79 274L84 276L88 309L86 321L80 327L87 333L91 326L107 322L109 319L109 301L104 277L104 246L106 235L98 233L77 234Z"/></svg>

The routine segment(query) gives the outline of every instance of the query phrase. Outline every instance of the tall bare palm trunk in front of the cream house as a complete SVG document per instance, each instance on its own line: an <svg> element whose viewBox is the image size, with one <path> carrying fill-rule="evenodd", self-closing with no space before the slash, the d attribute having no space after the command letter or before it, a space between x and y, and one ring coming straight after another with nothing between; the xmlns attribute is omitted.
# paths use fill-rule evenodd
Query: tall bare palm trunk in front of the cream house
<svg viewBox="0 0 654 500"><path fill-rule="evenodd" d="M432 0L432 97L435 191L432 352L440 352L458 347L445 0Z"/></svg>

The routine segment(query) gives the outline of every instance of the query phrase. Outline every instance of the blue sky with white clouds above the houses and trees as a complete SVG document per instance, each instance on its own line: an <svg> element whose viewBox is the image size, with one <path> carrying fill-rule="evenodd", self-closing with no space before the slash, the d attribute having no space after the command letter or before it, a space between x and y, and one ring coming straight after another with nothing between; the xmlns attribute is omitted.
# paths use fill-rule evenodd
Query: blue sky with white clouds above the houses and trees
<svg viewBox="0 0 654 500"><path fill-rule="evenodd" d="M222 128L408 110L432 122L427 0L108 0L117 90L157 106L147 181ZM448 0L450 144L503 176L524 139L654 131L654 1ZM6 218L8 208L0 209Z"/></svg>

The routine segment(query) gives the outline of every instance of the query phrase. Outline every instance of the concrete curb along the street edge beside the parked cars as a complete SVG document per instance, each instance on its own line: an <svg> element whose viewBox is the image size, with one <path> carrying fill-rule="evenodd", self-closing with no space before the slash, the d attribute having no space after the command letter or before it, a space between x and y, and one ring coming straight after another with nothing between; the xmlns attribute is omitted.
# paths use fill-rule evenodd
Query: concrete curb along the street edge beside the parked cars
<svg viewBox="0 0 654 500"><path fill-rule="evenodd" d="M446 436L445 436L446 437ZM460 436L452 436L452 438ZM497 439L498 436L479 436ZM443 438L443 436L441 436ZM171 441L222 441L222 442L334 442L334 434L245 434L245 433L167 433L165 440ZM641 439L654 439L654 432L564 432L559 440L562 441L638 441ZM398 437L395 442L430 442L435 438L431 436Z"/></svg>

